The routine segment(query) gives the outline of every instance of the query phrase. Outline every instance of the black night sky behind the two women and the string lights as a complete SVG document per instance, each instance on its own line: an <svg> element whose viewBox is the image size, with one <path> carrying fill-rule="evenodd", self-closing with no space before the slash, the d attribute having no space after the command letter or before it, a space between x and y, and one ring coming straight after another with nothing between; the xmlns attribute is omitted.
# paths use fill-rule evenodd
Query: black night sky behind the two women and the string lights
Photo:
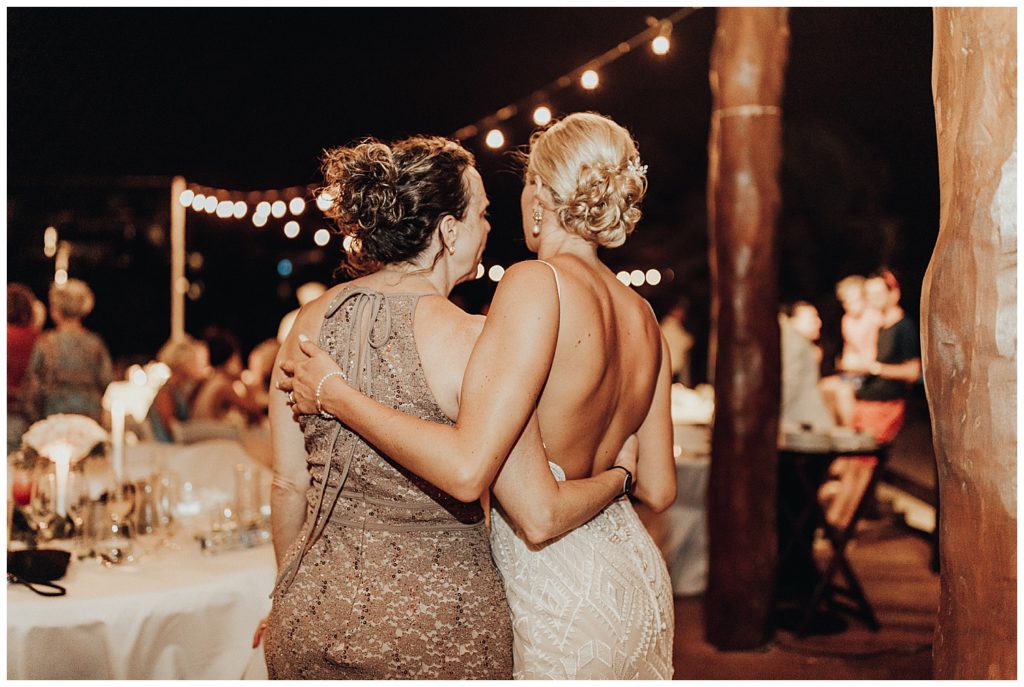
<svg viewBox="0 0 1024 687"><path fill-rule="evenodd" d="M450 135L529 94L671 8L7 9L8 281L44 296L43 229L72 244L71 274L97 295L87 326L116 356L151 356L169 334L169 189L175 174L236 190L318 181L325 147L374 135ZM931 10L794 9L781 174L780 294L839 314L833 285L883 264L915 314L938 229ZM637 232L603 254L613 269L672 268L642 293L691 302L697 378L708 329L705 181L715 10L677 25L671 52L637 49L594 92L552 93L558 114L593 110L627 126L649 165ZM525 143L528 113L505 127ZM528 257L519 179L507 151L464 141L493 207L484 263ZM296 306L294 289L333 281L340 241L188 212L186 329L234 330L247 348ZM282 277L276 265L290 259ZM471 309L488 281L459 287Z"/></svg>

